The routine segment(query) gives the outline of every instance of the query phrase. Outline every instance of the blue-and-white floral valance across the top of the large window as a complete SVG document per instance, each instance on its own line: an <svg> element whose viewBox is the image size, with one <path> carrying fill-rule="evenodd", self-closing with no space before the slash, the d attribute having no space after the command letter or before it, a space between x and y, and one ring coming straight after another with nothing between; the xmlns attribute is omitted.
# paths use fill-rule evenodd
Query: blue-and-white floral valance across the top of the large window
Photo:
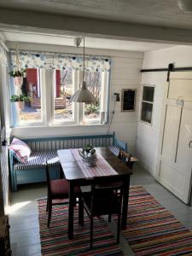
<svg viewBox="0 0 192 256"><path fill-rule="evenodd" d="M66 69L73 68L75 70L83 69L83 55L69 54L52 54L43 52L20 51L19 53L20 68L53 68ZM11 67L17 68L16 52L11 52ZM85 56L85 70L109 71L111 61L108 57L102 56Z"/></svg>

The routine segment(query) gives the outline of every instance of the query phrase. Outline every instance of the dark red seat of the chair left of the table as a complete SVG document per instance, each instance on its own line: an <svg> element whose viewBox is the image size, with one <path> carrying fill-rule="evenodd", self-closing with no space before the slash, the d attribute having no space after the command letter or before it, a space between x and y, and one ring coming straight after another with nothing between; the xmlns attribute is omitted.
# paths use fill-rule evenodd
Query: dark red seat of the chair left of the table
<svg viewBox="0 0 192 256"><path fill-rule="evenodd" d="M50 181L50 190L52 197L55 199L61 198L65 199L68 198L68 192L69 192L69 183L66 179L56 179ZM75 195L78 197L78 195L81 193L81 189L79 187L75 188Z"/></svg>

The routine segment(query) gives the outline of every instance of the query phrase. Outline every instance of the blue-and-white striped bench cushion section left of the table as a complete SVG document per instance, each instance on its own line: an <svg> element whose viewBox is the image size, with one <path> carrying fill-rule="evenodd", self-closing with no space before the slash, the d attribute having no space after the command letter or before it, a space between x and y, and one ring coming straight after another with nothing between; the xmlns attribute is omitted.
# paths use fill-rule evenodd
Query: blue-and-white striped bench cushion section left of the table
<svg viewBox="0 0 192 256"><path fill-rule="evenodd" d="M15 159L15 170L26 170L44 167L46 161L49 166L59 166L59 158L56 150L32 152L26 164L21 164Z"/></svg>

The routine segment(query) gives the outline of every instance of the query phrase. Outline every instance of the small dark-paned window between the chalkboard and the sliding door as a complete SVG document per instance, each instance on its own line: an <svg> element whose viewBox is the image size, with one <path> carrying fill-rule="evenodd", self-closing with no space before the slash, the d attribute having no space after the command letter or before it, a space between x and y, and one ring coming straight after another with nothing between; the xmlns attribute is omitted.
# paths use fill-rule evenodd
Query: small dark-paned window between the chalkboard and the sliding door
<svg viewBox="0 0 192 256"><path fill-rule="evenodd" d="M154 85L143 85L141 120L151 124L154 105Z"/></svg>

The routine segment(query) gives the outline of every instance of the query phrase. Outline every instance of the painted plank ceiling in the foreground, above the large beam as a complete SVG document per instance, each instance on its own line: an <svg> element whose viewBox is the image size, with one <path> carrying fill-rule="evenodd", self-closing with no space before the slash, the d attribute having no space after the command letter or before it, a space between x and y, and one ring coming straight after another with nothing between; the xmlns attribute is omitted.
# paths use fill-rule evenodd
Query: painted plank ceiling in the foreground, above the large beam
<svg viewBox="0 0 192 256"><path fill-rule="evenodd" d="M180 10L177 0L1 0L0 7L192 29L192 14Z"/></svg>

